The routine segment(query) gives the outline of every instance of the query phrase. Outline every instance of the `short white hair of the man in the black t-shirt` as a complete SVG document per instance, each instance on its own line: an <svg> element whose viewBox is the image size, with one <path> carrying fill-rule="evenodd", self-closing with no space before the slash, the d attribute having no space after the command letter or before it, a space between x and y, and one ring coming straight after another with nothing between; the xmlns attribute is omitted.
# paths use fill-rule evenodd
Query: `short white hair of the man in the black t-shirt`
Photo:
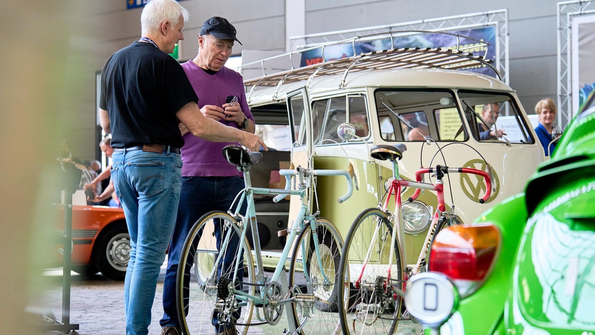
<svg viewBox="0 0 595 335"><path fill-rule="evenodd" d="M188 11L176 0L147 0L143 13L140 14L141 33L158 32L163 21L169 21L175 26L179 23L180 15L184 18L184 22L188 21Z"/></svg>

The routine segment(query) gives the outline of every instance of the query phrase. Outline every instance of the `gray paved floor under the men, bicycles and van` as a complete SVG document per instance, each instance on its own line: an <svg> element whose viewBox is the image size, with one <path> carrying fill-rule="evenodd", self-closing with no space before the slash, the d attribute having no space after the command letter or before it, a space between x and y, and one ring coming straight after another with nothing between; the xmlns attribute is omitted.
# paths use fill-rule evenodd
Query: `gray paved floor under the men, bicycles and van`
<svg viewBox="0 0 595 335"><path fill-rule="evenodd" d="M162 269L163 272L163 269ZM124 334L124 284L120 281L111 281L101 274L93 275L90 278L73 273L71 287L71 322L80 324L77 333L82 335L112 335ZM162 275L160 279L162 280ZM58 320L61 320L61 269L46 271L45 279L51 289L46 291L43 297L35 306L29 310L37 315L45 314L47 309L52 309ZM159 319L163 309L161 297L163 283L159 281L155 294L155 300L151 311L151 325L149 334L158 335L161 331ZM319 321L320 322L320 321ZM277 325L259 325L250 327L249 334L277 334L283 335L284 328L287 328L287 315ZM410 321L399 322L399 333L419 334L421 325L412 324ZM60 334L55 332L55 334Z"/></svg>

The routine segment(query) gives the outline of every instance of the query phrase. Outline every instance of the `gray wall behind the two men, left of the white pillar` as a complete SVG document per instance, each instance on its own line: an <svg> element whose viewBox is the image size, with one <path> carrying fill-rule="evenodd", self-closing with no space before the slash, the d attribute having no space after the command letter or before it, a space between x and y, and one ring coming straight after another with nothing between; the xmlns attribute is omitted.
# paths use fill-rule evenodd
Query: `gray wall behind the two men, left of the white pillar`
<svg viewBox="0 0 595 335"><path fill-rule="evenodd" d="M118 49L124 48L140 37L140 13L142 8L126 9L125 0L77 1L80 8L73 13L87 13L75 18L77 44L84 57L85 72L71 73L73 80L80 82L82 89L76 97L77 111L67 117L62 135L72 145L73 156L82 160L94 159L99 147L96 143L95 73L101 71ZM279 0L184 0L180 2L190 13L184 26L184 41L181 42L181 58L196 56L196 36L202 23L209 17L226 17L237 29L237 37L243 46L236 44L234 55L242 54L242 48L284 51L285 50L285 5Z"/></svg>

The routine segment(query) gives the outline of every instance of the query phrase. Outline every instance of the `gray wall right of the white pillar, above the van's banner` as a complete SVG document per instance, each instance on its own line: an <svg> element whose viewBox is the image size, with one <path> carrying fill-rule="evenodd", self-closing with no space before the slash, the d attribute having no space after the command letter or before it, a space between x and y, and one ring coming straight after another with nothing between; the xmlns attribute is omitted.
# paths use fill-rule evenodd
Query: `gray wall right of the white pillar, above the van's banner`
<svg viewBox="0 0 595 335"><path fill-rule="evenodd" d="M509 77L528 114L556 101L558 0L306 0L306 34L507 8Z"/></svg>

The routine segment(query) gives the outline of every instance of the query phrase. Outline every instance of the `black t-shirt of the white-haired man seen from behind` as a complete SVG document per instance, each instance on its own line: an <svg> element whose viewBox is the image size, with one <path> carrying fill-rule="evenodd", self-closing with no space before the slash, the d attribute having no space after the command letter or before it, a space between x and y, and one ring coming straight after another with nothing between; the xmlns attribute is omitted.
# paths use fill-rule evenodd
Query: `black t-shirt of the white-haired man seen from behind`
<svg viewBox="0 0 595 335"><path fill-rule="evenodd" d="M112 148L184 140L176 112L198 101L180 63L153 44L134 42L105 63L99 108L108 111Z"/></svg>

